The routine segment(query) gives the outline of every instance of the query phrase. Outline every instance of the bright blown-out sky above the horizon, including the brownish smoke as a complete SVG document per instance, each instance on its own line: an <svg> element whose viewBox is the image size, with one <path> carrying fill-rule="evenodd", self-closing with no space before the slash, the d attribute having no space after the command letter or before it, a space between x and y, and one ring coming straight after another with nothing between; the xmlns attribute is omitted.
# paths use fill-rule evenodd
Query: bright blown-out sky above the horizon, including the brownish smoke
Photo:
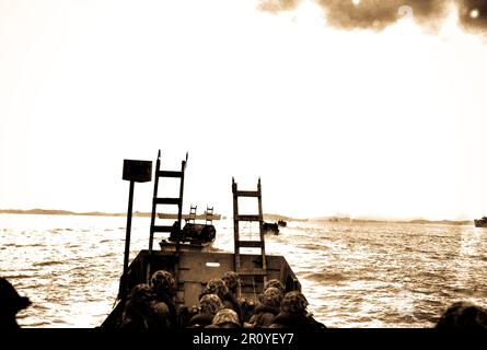
<svg viewBox="0 0 487 350"><path fill-rule="evenodd" d="M165 170L188 152L185 212L230 214L232 177L260 177L268 213L482 217L486 16L466 0L0 0L0 209L124 212L123 161L161 150ZM135 211L152 190L136 185Z"/></svg>

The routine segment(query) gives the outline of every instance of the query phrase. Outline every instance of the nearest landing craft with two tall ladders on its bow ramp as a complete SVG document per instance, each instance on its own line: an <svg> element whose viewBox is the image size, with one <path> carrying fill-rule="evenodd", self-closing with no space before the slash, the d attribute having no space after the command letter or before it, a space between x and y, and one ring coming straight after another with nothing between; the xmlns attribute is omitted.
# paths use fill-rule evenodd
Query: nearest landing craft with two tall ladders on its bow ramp
<svg viewBox="0 0 487 350"><path fill-rule="evenodd" d="M301 283L289 266L283 256L266 255L264 232L262 230L263 209L262 209L262 187L260 178L256 190L241 190L232 178L233 194L233 253L205 252L195 247L192 242L182 242L175 238L171 247L161 244L160 249L153 248L154 233L181 232L184 174L187 164L182 161L181 171L161 171L160 170L161 151L158 153L156 166L154 171L154 196L152 199L151 226L149 232L148 249L138 253L132 262L128 266L128 253L130 246L129 219L131 218L131 202L129 200L129 211L127 213L127 237L124 260L124 273L120 278L120 288L117 302L113 311L102 324L102 328L117 328L121 323L125 302L129 291L139 283L148 283L153 272L158 270L170 271L176 281L176 307L187 306L189 310L199 304L199 295L204 291L207 282L212 278L221 278L227 271L235 271L241 279L241 299L246 299L250 303L257 303L257 295L263 291L265 281L277 279L282 282L286 292L301 291ZM150 162L151 163L151 162ZM142 163L146 166L141 172L146 174L143 180L150 180L147 172L151 172L151 165ZM129 172L124 172L124 179L130 179ZM179 197L159 198L158 186L159 177L176 177L181 179ZM132 189L132 180L131 180ZM258 213L240 214L239 198L250 197L258 201ZM172 225L155 224L155 208L158 205L175 205L178 208L177 220ZM258 222L258 240L243 237L240 232L241 222ZM242 237L242 238L241 238ZM259 254L243 254L241 248L258 249ZM127 265L127 266L126 266Z"/></svg>

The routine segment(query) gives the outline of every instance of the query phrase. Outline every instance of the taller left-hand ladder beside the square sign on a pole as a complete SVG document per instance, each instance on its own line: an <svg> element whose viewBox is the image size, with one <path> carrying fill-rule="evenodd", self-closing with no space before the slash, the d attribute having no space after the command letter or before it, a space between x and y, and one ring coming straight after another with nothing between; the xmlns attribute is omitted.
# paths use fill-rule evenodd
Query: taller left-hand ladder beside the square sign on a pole
<svg viewBox="0 0 487 350"><path fill-rule="evenodd" d="M186 170L186 163L188 160L188 154L186 153L186 159L181 162L181 171L161 171L161 150L158 152L158 161L155 162L155 174L154 174L154 195L152 198L152 214L151 214L151 228L149 237L149 253L152 254L152 246L155 232L169 232L173 234L181 233L181 220L183 215L183 189L184 189L184 172ZM159 178L161 177L176 177L179 178L179 197L158 197L159 190ZM158 205L174 205L177 206L177 221L173 225L156 225L155 215ZM176 243L176 252L179 252L179 242Z"/></svg>

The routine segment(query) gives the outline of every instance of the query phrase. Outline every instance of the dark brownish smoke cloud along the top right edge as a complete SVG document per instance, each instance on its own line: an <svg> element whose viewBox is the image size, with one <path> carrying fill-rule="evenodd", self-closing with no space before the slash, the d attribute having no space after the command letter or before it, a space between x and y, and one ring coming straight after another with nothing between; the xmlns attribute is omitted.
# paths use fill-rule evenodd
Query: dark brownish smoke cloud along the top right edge
<svg viewBox="0 0 487 350"><path fill-rule="evenodd" d="M459 11L460 24L487 33L487 0L315 0L327 22L339 28L383 30L404 16L431 28L441 24L451 9ZM263 11L290 11L300 0L263 0ZM452 7L453 5L453 7Z"/></svg>

